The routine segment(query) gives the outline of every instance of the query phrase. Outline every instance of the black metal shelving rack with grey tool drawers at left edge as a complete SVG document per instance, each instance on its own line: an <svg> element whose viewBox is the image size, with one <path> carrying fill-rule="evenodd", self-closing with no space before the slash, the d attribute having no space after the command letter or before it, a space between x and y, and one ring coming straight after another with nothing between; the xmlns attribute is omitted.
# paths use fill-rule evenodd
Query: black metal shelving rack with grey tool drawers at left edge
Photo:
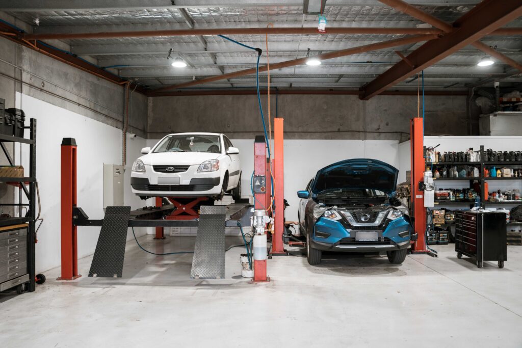
<svg viewBox="0 0 522 348"><path fill-rule="evenodd" d="M25 143L29 145L29 176L0 177L0 182L19 187L18 203L1 203L0 206L26 207L17 217L0 217L0 292L16 287L18 293L35 289L35 242L36 242L36 119L31 118L30 137L20 138L0 134L2 148L10 165L14 165L5 143ZM26 184L28 187L26 187ZM28 202L22 202L22 193ZM39 283L45 277L39 274Z"/></svg>

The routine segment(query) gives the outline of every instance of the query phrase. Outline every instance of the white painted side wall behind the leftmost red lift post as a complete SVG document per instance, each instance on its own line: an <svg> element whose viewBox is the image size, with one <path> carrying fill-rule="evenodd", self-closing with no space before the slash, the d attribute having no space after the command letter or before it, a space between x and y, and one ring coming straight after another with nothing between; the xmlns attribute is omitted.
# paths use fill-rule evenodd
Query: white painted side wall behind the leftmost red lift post
<svg viewBox="0 0 522 348"><path fill-rule="evenodd" d="M37 119L37 180L40 187L44 219L38 232L36 268L42 272L61 264L60 253L60 144L62 138L75 138L78 143L78 206L92 219L103 218L103 163L121 163L121 130L94 121L72 111L17 93L17 107L29 118ZM28 136L28 133L26 137ZM137 209L143 201L131 192L133 153L145 147L143 138L127 139L127 165L125 167L126 205ZM29 174L29 146L22 145L22 165ZM20 153L16 158L19 160ZM135 229L143 235L145 229ZM78 227L78 257L94 252L100 227ZM129 232L127 239L131 239Z"/></svg>

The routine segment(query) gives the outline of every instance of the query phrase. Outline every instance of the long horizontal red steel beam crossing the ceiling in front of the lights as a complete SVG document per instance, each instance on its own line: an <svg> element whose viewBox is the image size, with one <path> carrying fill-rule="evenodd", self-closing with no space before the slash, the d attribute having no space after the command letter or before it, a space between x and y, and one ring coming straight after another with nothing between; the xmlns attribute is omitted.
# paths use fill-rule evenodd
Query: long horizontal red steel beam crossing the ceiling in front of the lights
<svg viewBox="0 0 522 348"><path fill-rule="evenodd" d="M384 1L383 3L387 3ZM390 5L391 6L391 5ZM411 5L408 5L412 7ZM392 6L393 7L393 6ZM412 7L414 8L414 7ZM420 10L418 10L420 11ZM422 11L420 11L422 13ZM414 16L413 16L414 17ZM442 22L442 21L441 21ZM432 24L433 25L433 24ZM383 34L383 35L426 35L442 34L444 31L438 28L327 28L326 34ZM517 35L522 33L522 28L503 28L496 30L491 35ZM64 40L64 39L112 39L112 38L153 38L173 36L195 35L264 35L264 34L321 34L317 28L220 28L220 29L182 29L182 30L143 30L143 31L104 31L92 33L40 33L25 34L26 40Z"/></svg>

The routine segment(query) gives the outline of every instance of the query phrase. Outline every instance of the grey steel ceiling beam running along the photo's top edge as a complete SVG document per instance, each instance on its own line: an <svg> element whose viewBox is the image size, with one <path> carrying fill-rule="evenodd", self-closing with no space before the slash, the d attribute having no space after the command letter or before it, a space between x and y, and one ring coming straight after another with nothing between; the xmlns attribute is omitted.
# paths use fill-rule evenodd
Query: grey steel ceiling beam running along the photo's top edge
<svg viewBox="0 0 522 348"><path fill-rule="evenodd" d="M475 5L478 0L415 0L421 6ZM326 6L379 6L376 0L328 0ZM89 10L138 10L150 8L205 8L205 7L262 7L303 6L302 0L0 0L0 10L13 12L89 11Z"/></svg>

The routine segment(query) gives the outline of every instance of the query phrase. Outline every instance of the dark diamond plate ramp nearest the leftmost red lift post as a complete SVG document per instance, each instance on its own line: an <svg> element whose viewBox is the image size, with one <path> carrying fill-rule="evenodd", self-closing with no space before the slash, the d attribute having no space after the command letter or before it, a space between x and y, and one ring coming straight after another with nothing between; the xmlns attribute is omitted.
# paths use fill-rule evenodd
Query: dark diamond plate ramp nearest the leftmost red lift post
<svg viewBox="0 0 522 348"><path fill-rule="evenodd" d="M107 207L89 277L122 277L131 207ZM96 275L95 275L96 274Z"/></svg>

